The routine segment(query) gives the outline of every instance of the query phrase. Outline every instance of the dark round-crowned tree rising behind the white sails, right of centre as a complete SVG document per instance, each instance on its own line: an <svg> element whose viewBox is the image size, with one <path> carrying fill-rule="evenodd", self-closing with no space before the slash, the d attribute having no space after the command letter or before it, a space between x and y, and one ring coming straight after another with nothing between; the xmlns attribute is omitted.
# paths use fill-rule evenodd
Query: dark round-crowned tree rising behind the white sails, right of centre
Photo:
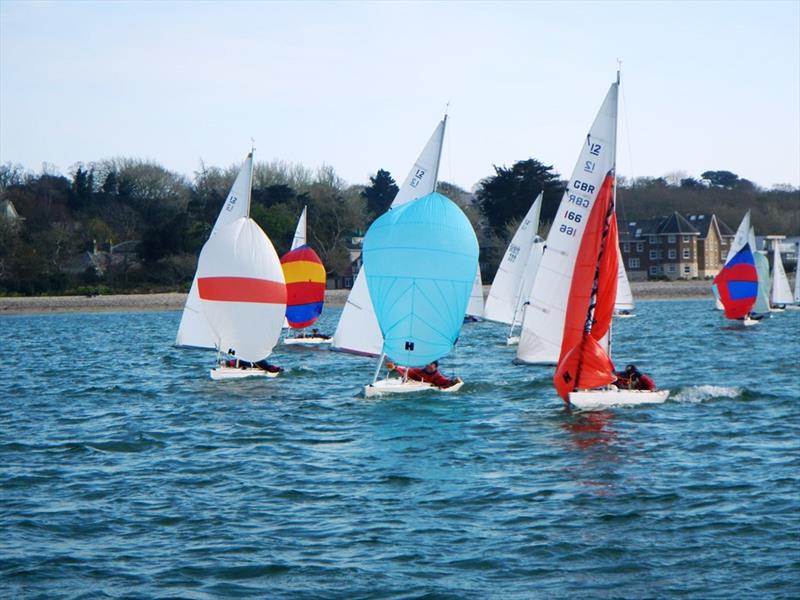
<svg viewBox="0 0 800 600"><path fill-rule="evenodd" d="M510 169L495 166L494 170L495 175L481 181L477 198L489 227L496 235L505 236L506 225L521 219L542 191L542 220L553 219L564 193L564 183L552 165L545 166L529 158L514 163Z"/></svg>

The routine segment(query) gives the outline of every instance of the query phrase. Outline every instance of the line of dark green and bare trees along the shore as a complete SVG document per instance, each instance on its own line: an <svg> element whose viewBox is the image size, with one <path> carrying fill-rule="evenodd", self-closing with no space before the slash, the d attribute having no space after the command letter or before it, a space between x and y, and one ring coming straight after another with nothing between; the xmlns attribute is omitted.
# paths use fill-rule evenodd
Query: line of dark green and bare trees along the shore
<svg viewBox="0 0 800 600"><path fill-rule="evenodd" d="M0 216L0 293L69 293L86 286L187 289L238 170L239 165L201 165L187 178L132 158L77 164L69 176L51 168L34 174L11 163L0 165L0 206L10 201L24 219ZM438 189L470 218L481 244L484 281L491 281L534 198L544 191L546 234L565 187L552 166L526 159L495 166L472 191L447 182ZM341 275L350 267L352 238L363 234L396 193L394 178L383 169L366 185L349 185L329 165L257 163L250 216L283 254L300 211L308 206L309 244L329 275ZM707 171L700 179L622 180L617 198L623 219L704 212L735 228L750 208L759 233L800 231L800 190L764 190L728 171ZM81 268L81 256L126 241L136 242L135 260L111 262L102 273L92 265Z"/></svg>

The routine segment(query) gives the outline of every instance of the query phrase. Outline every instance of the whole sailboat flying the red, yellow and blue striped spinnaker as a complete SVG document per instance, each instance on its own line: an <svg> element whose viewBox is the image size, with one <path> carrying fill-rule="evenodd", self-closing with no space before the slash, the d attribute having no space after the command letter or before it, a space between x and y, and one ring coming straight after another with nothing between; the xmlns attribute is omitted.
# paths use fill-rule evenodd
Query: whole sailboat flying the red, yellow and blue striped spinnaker
<svg viewBox="0 0 800 600"><path fill-rule="evenodd" d="M292 246L281 257L283 275L286 279L286 319L284 326L302 330L296 336L287 336L284 344L320 345L330 343L329 336L320 335L316 330L306 334L322 314L325 301L325 267L313 248L306 244L306 208L300 214Z"/></svg>

